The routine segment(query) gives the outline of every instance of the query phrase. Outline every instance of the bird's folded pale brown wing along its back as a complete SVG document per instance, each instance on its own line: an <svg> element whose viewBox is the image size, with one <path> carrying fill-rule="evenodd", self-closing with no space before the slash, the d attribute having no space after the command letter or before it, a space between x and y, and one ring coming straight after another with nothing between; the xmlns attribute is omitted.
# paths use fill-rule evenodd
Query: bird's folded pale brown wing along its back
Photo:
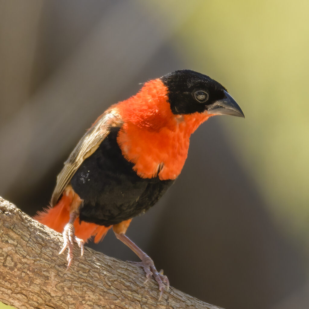
<svg viewBox="0 0 309 309"><path fill-rule="evenodd" d="M106 111L95 124L84 134L64 163L64 167L57 176L56 187L51 198L51 206L55 206L63 190L69 184L74 173L83 161L98 149L113 127L121 127L122 121L115 110Z"/></svg>

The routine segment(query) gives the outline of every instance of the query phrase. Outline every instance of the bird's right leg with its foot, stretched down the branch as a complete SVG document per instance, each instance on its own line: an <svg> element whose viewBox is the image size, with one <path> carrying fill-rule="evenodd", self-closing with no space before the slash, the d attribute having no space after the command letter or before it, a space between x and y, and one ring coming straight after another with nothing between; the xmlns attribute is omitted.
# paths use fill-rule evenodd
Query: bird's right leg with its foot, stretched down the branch
<svg viewBox="0 0 309 309"><path fill-rule="evenodd" d="M124 233L117 233L115 229L114 229L114 233L119 240L121 240L125 245L127 245L142 260L141 262L136 263L136 264L141 265L145 270L145 273L146 273L145 283L149 280L151 276L153 276L155 278L155 281L158 282L159 290L160 290L160 296L159 296L159 300L160 300L165 290L165 284L166 284L167 290L169 289L169 286L170 286L167 276L163 275L162 270L158 272L150 256L148 256L145 252L143 252L140 248L138 248L138 246L135 243L133 243L131 239L125 236Z"/></svg>

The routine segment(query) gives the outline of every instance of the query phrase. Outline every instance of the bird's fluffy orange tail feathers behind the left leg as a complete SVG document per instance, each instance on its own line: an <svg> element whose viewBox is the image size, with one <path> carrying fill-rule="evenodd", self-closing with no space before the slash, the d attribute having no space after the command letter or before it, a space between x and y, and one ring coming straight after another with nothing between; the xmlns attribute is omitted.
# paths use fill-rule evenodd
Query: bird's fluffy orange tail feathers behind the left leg
<svg viewBox="0 0 309 309"><path fill-rule="evenodd" d="M62 233L64 226L70 219L70 206L73 201L73 195L63 194L57 205L54 207L48 207L43 211L39 211L34 219L50 227L51 229ZM112 226L101 226L95 223L79 222L77 218L74 222L75 236L83 239L85 242L91 236L95 236L94 241L98 243L104 238L107 231Z"/></svg>

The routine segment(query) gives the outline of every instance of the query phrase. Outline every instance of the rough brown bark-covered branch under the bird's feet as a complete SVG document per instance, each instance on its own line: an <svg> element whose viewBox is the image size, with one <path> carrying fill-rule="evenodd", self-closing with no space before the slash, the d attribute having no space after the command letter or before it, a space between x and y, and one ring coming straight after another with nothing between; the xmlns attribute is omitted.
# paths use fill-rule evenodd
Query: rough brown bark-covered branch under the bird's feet
<svg viewBox="0 0 309 309"><path fill-rule="evenodd" d="M16 308L220 309L172 287L158 302L158 285L144 284L141 268L90 248L80 257L75 246L65 271L61 234L1 197L0 237L0 301Z"/></svg>

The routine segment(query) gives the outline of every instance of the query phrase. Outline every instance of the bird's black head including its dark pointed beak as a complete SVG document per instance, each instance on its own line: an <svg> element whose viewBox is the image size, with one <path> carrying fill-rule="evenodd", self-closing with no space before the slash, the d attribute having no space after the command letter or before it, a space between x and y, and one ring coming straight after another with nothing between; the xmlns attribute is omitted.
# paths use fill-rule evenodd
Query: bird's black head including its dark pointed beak
<svg viewBox="0 0 309 309"><path fill-rule="evenodd" d="M244 117L226 89L207 75L192 70L179 70L160 79L168 88L168 101L173 114L208 111Z"/></svg>

